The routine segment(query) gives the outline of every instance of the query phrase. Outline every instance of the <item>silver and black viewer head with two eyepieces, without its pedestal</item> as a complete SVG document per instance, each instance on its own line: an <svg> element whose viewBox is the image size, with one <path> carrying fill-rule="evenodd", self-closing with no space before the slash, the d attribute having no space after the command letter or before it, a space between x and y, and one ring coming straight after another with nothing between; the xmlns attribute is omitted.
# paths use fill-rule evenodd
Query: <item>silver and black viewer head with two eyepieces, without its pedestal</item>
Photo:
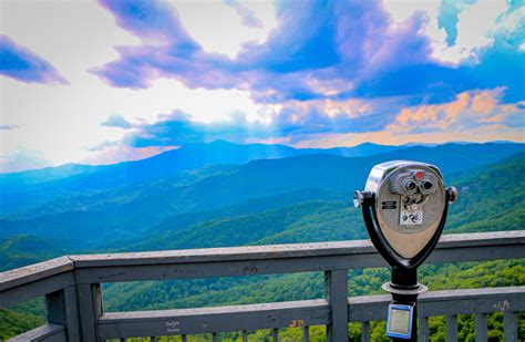
<svg viewBox="0 0 525 342"><path fill-rule="evenodd" d="M364 191L354 194L354 206L366 205L363 213L371 211L373 220L366 222L369 232L374 230L377 241L371 237L378 249L393 251L397 260L420 263L423 251L435 246L447 204L456 196L454 188L445 188L436 166L393 160L372 168Z"/></svg>

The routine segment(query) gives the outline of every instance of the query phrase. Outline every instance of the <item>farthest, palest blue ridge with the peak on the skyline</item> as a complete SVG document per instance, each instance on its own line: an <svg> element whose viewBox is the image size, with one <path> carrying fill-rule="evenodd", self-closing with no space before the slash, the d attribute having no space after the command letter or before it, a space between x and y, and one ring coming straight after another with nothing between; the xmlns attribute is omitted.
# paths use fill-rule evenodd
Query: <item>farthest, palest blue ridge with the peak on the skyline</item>
<svg viewBox="0 0 525 342"><path fill-rule="evenodd" d="M24 186L56 182L58 186L75 189L75 182L83 179L92 188L103 189L115 185L133 184L173 176L184 169L210 164L239 165L256 159L285 158L299 155L330 154L348 157L375 155L403 148L403 146L364 143L353 147L295 148L285 145L234 144L226 141L187 144L150 158L110 165L65 164L42 169L0 174L0 186L6 193L23 191ZM64 180L72 179L72 183ZM62 182L61 182L62 180Z"/></svg>

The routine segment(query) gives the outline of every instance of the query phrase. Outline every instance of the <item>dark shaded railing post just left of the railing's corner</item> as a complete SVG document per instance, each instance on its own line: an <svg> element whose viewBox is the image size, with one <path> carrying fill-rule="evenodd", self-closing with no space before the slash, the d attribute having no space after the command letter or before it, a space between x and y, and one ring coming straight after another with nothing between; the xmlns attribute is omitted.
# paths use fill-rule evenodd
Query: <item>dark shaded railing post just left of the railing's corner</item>
<svg viewBox="0 0 525 342"><path fill-rule="evenodd" d="M48 322L63 325L68 341L80 341L79 307L74 286L45 294L45 309Z"/></svg>

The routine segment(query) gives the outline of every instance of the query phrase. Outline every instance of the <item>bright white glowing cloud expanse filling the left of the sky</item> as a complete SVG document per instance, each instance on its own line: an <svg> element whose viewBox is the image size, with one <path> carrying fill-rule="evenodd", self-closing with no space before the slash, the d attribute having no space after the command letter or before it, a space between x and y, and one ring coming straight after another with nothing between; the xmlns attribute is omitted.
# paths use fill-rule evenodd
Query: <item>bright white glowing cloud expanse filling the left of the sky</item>
<svg viewBox="0 0 525 342"><path fill-rule="evenodd" d="M71 83L49 86L0 77L0 125L20 127L0 132L0 156L4 158L27 148L41 151L40 157L53 165L96 163L96 157L89 156L93 154L90 147L124 136L123 129L101 125L115 114L132 123L155 122L158 115L178 108L195 121L213 122L227 121L239 112L256 120L264 112L247 92L237 90L189 90L173 80L159 80L141 91L104 84L87 70L114 60L115 45L134 45L140 40L120 29L113 15L94 1L7 1L0 6L4 13L0 33L50 61ZM240 22L235 10L234 14ZM265 18L261 15L266 24ZM113 155L117 162L117 154ZM110 160L101 156L101 162Z"/></svg>

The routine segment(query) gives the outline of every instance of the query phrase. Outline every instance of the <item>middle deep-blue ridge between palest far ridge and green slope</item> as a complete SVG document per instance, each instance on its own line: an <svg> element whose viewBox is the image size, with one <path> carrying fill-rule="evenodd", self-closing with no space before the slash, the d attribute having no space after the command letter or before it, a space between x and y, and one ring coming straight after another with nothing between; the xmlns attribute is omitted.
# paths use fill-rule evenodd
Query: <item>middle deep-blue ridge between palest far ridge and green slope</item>
<svg viewBox="0 0 525 342"><path fill-rule="evenodd" d="M84 245L100 243L132 238L173 215L223 210L261 197L300 194L305 189L350 197L354 189L363 187L370 168L384 160L429 162L439 165L447 177L519 151L523 146L517 144L446 144L414 146L368 157L305 155L258 159L225 169L212 167L206 172L192 172L197 176L187 177L186 182L167 177L110 191L87 193L81 198L62 198L60 203L34 209L30 218L1 220L0 235L32 234L74 239ZM310 196L309 199L317 198ZM298 200L288 201L294 203Z"/></svg>

